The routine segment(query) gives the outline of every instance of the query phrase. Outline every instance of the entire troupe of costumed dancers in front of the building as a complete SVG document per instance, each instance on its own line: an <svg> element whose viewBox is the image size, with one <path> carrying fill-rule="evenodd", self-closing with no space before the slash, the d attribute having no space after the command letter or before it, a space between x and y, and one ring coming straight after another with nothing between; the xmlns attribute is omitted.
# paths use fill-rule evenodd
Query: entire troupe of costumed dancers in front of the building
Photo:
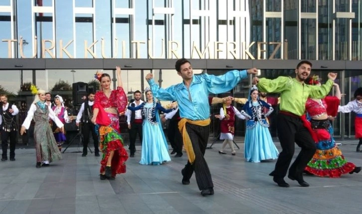
<svg viewBox="0 0 362 214"><path fill-rule="evenodd" d="M153 74L146 75L150 87L145 89L146 101L142 101L140 91L134 93L134 101L128 103L121 79L121 68L116 67L117 88L111 90L111 77L97 72L95 78L101 90L88 95L81 105L76 125L82 126L84 136L82 156L87 156L89 136L92 135L95 156L102 155L100 179L113 180L117 174L126 173L128 153L120 135L119 116L127 116L130 136L130 157L135 156L137 135L142 142L141 165L161 165L171 161L168 143L162 129L162 121L170 120L168 138L172 146L171 154L182 156L182 147L187 154L187 163L181 170L181 183L188 185L195 172L196 183L202 196L213 195L211 173L204 158L209 138L210 104L222 103L220 114L220 139L224 140L219 153L224 155L225 146L235 155L233 137L235 117L245 120L246 134L244 158L247 162L259 163L263 160L277 159L275 169L270 173L273 181L280 187L289 187L284 177L296 180L302 187L303 173L320 177L339 178L343 174L359 173L361 167L347 162L333 137L333 121L338 112L356 113L356 138L362 145L362 88L355 92L355 100L340 106L341 91L334 83L337 74L328 73L328 81L320 83L318 76L310 77L312 63L301 61L295 69L295 78L280 76L270 80L254 76L253 86L247 98L212 98L208 95L220 94L233 89L248 74L256 75L256 68L232 70L220 76L209 74L194 75L187 59L176 62L176 70L182 82L166 89L160 88ZM334 96L328 96L332 87ZM32 87L35 94L27 116L21 125L23 135L34 120L34 141L36 168L49 166L52 161L61 160L61 147L66 140L64 124L72 121L68 117L61 96L56 95L54 104L50 94ZM278 93L279 98L267 99L266 93ZM159 101L172 101L166 108ZM7 140L10 145L10 161L15 161L17 126L14 120L18 109L7 102L6 95L0 95L1 161L7 161ZM238 111L232 102L244 104ZM282 151L273 143L269 132L268 116L273 107L280 103L277 115L277 131ZM159 112L164 112L161 117ZM50 122L49 122L50 121ZM301 151L291 166L296 143ZM183 146L182 146L183 145ZM289 169L289 170L288 170Z"/></svg>

